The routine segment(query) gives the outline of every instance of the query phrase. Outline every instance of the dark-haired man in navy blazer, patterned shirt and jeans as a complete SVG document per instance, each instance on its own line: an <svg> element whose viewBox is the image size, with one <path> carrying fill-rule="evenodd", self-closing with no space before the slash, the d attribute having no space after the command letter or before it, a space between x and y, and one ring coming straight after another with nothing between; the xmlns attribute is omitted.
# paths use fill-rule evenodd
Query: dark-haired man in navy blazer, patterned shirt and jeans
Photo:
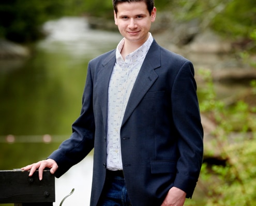
<svg viewBox="0 0 256 206"><path fill-rule="evenodd" d="M198 181L203 129L193 65L149 33L154 0L113 0L124 39L88 64L81 115L70 139L31 176L56 177L94 148L91 205L183 205Z"/></svg>

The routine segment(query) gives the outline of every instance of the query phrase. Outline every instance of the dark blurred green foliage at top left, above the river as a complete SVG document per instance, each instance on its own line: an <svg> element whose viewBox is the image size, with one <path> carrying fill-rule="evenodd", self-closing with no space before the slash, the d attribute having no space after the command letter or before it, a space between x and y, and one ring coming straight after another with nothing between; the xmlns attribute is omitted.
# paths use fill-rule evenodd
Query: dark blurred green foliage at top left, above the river
<svg viewBox="0 0 256 206"><path fill-rule="evenodd" d="M105 15L113 18L112 1L4 0L0 3L0 38L33 42L43 36L44 22L65 15Z"/></svg>

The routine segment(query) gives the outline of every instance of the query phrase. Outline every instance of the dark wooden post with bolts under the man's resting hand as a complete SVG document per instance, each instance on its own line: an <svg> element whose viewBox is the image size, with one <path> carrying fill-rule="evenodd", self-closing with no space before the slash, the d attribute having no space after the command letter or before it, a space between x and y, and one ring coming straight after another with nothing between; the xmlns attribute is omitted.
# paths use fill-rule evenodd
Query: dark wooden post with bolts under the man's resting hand
<svg viewBox="0 0 256 206"><path fill-rule="evenodd" d="M14 203L14 206L52 206L55 202L55 178L50 170L38 171L28 177L28 171L0 171L0 204Z"/></svg>

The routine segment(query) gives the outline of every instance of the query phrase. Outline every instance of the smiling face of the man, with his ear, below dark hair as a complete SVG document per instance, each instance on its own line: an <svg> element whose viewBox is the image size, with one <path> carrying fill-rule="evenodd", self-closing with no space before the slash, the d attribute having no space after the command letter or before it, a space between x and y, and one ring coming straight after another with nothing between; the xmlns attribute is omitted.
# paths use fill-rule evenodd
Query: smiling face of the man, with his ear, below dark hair
<svg viewBox="0 0 256 206"><path fill-rule="evenodd" d="M142 45L156 19L156 8L149 15L145 2L119 3L114 16L121 35L130 43Z"/></svg>

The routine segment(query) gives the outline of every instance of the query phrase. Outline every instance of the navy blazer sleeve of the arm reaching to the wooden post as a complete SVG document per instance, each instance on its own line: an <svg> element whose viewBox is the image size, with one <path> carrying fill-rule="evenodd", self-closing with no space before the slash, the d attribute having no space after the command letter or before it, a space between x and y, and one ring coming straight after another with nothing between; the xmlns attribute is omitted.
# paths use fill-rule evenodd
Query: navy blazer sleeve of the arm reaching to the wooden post
<svg viewBox="0 0 256 206"><path fill-rule="evenodd" d="M72 134L48 158L58 164L55 176L61 177L94 148L95 121L93 113L93 81L88 64L81 114L72 124Z"/></svg>

